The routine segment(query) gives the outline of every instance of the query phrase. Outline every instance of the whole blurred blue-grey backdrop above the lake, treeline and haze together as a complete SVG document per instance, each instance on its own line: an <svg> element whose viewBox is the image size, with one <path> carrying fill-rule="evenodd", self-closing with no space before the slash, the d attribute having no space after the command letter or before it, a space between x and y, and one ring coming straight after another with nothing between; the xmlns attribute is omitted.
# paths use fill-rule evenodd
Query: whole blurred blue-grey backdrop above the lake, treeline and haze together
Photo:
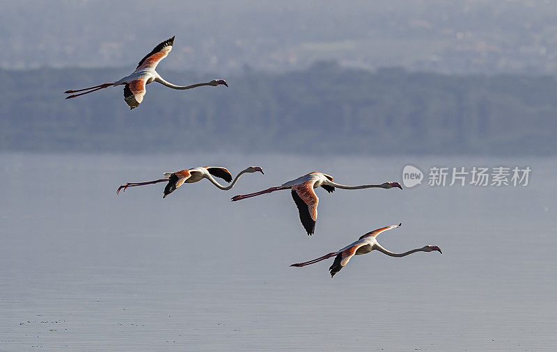
<svg viewBox="0 0 557 352"><path fill-rule="evenodd" d="M554 154L548 1L4 1L1 150ZM120 88L176 35L132 113ZM118 92L117 92L118 90Z"/></svg>

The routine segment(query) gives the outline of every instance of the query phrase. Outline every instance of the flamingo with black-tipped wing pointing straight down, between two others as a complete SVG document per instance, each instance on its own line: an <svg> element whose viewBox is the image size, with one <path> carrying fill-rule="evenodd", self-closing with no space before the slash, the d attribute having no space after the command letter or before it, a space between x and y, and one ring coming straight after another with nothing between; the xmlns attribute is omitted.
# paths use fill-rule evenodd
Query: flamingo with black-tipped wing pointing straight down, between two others
<svg viewBox="0 0 557 352"><path fill-rule="evenodd" d="M297 179L292 179L292 181L285 182L284 184L281 184L281 186L271 187L256 193L235 195L232 198L232 201L235 202L237 200L255 197L256 195L280 191L281 189L292 189L292 198L298 207L301 225L304 225L304 229L306 229L308 236L311 236L315 231L315 223L317 222L317 203L319 202L319 198L317 198L313 189L320 186L329 193L334 192L335 188L369 189L377 187L382 189L392 189L393 187L398 187L399 189L402 189L402 186L400 186L398 182L364 184L363 186L344 186L343 184L333 182L333 177L327 174L313 172L308 173L308 175L298 177Z"/></svg>

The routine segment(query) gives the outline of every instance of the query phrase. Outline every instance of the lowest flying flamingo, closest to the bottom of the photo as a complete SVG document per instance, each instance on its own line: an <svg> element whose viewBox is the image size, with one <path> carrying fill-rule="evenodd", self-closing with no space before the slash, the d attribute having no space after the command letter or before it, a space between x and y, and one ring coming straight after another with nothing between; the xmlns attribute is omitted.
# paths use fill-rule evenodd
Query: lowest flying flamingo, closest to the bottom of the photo
<svg viewBox="0 0 557 352"><path fill-rule="evenodd" d="M377 239L375 237L377 237L378 234L387 231L387 230L391 230L395 227L399 227L401 226L402 223L398 224L398 225L391 225L391 226L387 226L387 227L382 227L380 229L377 230L373 230L372 232L368 232L367 234L364 234L362 237L360 237L358 239L358 241L355 241L353 243L350 243L348 246L346 246L345 248L342 248L340 250L337 250L336 252L331 252L329 254L326 254L322 257L319 257L317 259L313 259L310 260L308 262L304 262L304 263L296 263L296 264L292 264L290 266L306 266L306 265L310 265L310 264L315 264L317 262L321 262L324 259L329 259L330 257L335 257L335 261L333 262L333 265L331 265L331 267L329 268L329 271L331 271L331 278L333 278L333 276L338 273L340 271L340 269L343 269L343 267L348 264L348 262L350 261L350 258L354 257L354 255L361 255L361 254L367 254L370 253L372 250L379 250L379 252L385 253L386 255L390 255L391 257L405 257L407 255L410 255L412 253L416 253L416 252L432 252L434 250L439 251L439 253L442 254L441 252L441 248L437 247L437 246L424 246L422 248L416 248L413 250L409 250L408 252L405 253L394 253L391 252L390 250L386 250L385 248L383 248L383 246L381 246L379 243L377 243Z"/></svg>

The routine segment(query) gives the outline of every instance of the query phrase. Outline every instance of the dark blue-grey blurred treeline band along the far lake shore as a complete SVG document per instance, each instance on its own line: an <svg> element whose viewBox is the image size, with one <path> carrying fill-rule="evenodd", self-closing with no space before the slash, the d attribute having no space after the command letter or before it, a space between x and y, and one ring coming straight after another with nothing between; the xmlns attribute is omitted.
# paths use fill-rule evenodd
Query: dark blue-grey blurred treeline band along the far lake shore
<svg viewBox="0 0 557 352"><path fill-rule="evenodd" d="M554 154L554 77L447 76L334 63L235 77L160 70L130 111L122 88L65 100L63 90L116 81L125 69L0 70L0 150Z"/></svg>

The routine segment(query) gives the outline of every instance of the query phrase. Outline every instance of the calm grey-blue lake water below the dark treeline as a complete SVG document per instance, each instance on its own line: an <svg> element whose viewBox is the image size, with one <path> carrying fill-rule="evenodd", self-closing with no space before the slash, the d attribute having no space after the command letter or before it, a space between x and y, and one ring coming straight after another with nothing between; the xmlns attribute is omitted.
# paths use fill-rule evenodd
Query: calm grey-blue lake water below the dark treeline
<svg viewBox="0 0 557 352"><path fill-rule="evenodd" d="M230 154L0 154L0 350L548 350L557 346L556 159ZM230 197L319 170L343 184L400 180L406 164L532 169L529 185L318 190L306 236L289 191ZM226 166L162 199L127 181ZM426 175L427 177L427 175ZM361 234L443 254L329 259Z"/></svg>

